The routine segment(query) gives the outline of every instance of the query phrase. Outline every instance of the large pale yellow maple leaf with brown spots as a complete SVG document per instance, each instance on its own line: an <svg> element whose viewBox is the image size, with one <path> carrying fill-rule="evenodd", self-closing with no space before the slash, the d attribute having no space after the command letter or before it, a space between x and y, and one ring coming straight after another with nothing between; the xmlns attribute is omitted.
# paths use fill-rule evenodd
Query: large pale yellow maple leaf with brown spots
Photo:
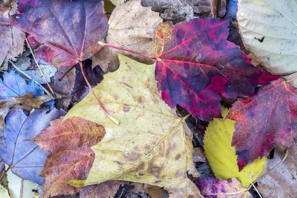
<svg viewBox="0 0 297 198"><path fill-rule="evenodd" d="M95 161L87 180L67 183L81 187L126 180L164 187L171 198L201 198L187 178L187 173L199 176L192 158L193 134L184 131L187 116L173 116L163 102L154 80L154 64L121 54L119 60L119 69L105 74L94 92L120 124L108 119L90 94L64 117L65 121L83 117L106 131L101 142L92 147Z"/></svg>

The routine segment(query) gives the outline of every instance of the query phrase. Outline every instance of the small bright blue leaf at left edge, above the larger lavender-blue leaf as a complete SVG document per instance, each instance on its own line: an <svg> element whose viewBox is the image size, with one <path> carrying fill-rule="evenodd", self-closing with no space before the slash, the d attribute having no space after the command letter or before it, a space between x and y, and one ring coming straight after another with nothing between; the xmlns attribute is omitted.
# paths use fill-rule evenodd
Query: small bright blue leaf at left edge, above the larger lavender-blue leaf
<svg viewBox="0 0 297 198"><path fill-rule="evenodd" d="M41 86L36 85L32 80L27 85L26 81L14 70L9 73L4 72L3 80L0 78L0 90L0 99L24 96L26 93L31 94L34 98L44 95Z"/></svg>

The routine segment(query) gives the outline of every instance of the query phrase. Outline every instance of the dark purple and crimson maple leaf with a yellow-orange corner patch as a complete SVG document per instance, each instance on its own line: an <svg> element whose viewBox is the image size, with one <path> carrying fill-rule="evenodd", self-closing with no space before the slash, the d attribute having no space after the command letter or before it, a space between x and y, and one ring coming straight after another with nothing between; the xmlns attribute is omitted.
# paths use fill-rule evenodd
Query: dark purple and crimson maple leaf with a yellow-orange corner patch
<svg viewBox="0 0 297 198"><path fill-rule="evenodd" d="M155 78L171 107L186 108L196 119L221 117L221 96L253 95L255 87L277 79L250 64L238 46L226 41L229 19L193 19L155 31Z"/></svg>

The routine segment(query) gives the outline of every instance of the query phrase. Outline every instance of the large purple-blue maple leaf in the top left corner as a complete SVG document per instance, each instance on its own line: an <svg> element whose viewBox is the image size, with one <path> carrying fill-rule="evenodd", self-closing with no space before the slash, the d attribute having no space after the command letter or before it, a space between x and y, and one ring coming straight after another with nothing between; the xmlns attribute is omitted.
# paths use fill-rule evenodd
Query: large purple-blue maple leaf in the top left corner
<svg viewBox="0 0 297 198"><path fill-rule="evenodd" d="M0 21L43 43L35 55L54 66L72 66L101 48L107 17L102 0L17 0L21 14ZM67 13L67 14L65 14Z"/></svg>

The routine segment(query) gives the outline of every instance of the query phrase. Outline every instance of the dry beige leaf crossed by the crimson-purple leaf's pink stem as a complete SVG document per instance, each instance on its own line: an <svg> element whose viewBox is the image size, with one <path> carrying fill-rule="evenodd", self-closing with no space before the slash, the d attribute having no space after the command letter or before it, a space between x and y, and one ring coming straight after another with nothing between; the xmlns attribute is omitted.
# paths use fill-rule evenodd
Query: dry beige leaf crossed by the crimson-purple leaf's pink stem
<svg viewBox="0 0 297 198"><path fill-rule="evenodd" d="M106 43L153 56L152 37L161 22L158 13L151 11L149 7L142 7L139 0L130 0L114 8L108 20ZM115 71L119 67L118 51L104 47L92 56L92 68L100 65L104 72ZM153 63L147 57L122 50L120 52L139 62Z"/></svg>

